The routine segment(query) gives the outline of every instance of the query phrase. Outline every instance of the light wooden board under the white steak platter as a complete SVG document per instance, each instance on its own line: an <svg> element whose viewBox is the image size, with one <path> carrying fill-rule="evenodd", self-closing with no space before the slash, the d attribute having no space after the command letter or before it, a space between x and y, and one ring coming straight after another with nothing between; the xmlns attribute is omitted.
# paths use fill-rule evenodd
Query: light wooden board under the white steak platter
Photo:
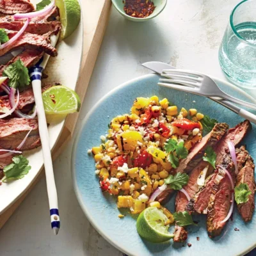
<svg viewBox="0 0 256 256"><path fill-rule="evenodd" d="M109 11L111 7L111 0L81 0L84 26L84 45L83 45L83 60L79 79L77 81L76 92L79 94L81 102L83 102L86 89L92 76L93 67L97 60L97 55L102 43L102 39L108 24ZM52 158L56 159L67 145L67 142L72 138L76 126L78 113L69 115L65 122L65 127L61 133L60 140L54 147ZM44 175L44 170L38 174L36 180L31 184L27 191L20 196L20 198L9 207L3 214L0 215L0 228L12 216L20 203L24 200L26 195L31 191L33 186Z"/></svg>

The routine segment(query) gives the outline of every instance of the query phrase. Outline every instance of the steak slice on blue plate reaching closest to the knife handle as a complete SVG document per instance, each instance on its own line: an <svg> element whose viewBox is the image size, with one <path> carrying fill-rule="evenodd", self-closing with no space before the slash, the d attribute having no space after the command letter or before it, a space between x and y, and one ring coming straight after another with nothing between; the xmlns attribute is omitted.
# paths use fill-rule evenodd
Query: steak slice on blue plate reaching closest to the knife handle
<svg viewBox="0 0 256 256"><path fill-rule="evenodd" d="M221 164L223 161L223 157L227 154L227 141L232 141L236 146L243 140L248 131L250 131L251 129L252 124L248 120L244 120L244 122L237 124L236 127L228 130L225 137L223 137L223 140L221 140L216 147L216 165Z"/></svg>

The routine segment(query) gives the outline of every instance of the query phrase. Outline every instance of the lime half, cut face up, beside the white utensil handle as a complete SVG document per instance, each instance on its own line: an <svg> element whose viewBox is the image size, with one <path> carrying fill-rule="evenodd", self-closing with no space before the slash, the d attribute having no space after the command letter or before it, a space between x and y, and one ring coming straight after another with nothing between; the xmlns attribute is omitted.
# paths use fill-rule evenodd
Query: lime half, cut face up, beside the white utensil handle
<svg viewBox="0 0 256 256"><path fill-rule="evenodd" d="M42 97L46 115L67 115L78 112L81 106L77 93L63 85L52 86Z"/></svg>

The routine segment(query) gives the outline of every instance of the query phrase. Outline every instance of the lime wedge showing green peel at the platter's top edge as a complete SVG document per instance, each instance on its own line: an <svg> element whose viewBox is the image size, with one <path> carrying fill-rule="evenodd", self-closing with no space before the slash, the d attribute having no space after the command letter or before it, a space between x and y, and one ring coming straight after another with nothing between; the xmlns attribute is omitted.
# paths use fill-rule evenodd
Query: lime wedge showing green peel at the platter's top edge
<svg viewBox="0 0 256 256"><path fill-rule="evenodd" d="M81 7L77 0L56 0L56 5L60 9L61 38L66 38L76 30L80 22Z"/></svg>

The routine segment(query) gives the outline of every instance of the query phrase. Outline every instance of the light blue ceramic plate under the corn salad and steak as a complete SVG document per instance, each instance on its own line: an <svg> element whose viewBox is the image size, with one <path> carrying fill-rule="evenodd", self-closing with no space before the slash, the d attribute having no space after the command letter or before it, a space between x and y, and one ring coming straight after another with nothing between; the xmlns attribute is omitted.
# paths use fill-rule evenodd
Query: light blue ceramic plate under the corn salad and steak
<svg viewBox="0 0 256 256"><path fill-rule="evenodd" d="M166 97L179 108L196 108L200 113L205 113L220 122L227 122L230 127L243 121L232 111L205 97L159 87L158 79L159 76L152 74L118 86L100 100L86 116L76 138L72 156L72 177L79 204L100 235L128 255L243 255L256 246L256 216L250 223L244 224L235 211L233 221L230 221L221 236L215 239L207 236L205 216L195 216L193 218L199 221L198 226L188 228L187 243L191 243L191 247L188 247L187 243L177 244L172 241L152 244L141 239L136 232L134 216L127 214L123 219L118 218L116 197L102 194L99 188L99 180L95 175L95 162L87 150L100 144L100 135L108 131L111 118L129 113L136 97L152 95L157 95L160 99ZM224 91L252 102L253 99L239 88L218 79L215 80ZM252 132L244 140L253 159L256 159L255 131L256 127L253 125ZM175 196L166 205L170 211L174 211L174 198ZM236 227L240 231L235 231ZM173 227L170 228L170 232L172 231ZM197 241L196 237L200 237L200 241Z"/></svg>

